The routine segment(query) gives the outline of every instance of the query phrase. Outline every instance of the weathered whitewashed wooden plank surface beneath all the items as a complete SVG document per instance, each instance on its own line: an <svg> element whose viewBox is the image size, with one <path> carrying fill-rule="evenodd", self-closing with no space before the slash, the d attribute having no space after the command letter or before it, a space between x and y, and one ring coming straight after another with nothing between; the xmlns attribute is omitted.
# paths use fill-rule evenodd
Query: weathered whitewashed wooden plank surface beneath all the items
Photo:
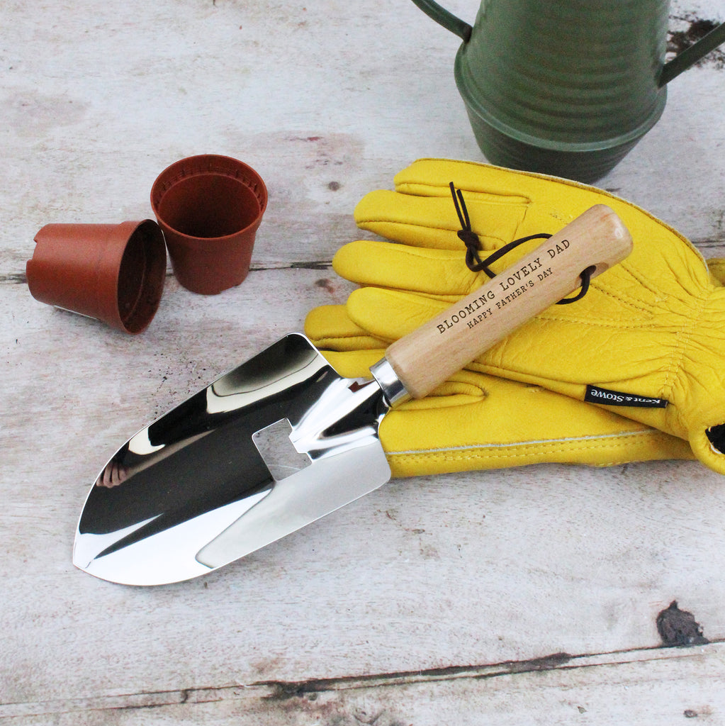
<svg viewBox="0 0 725 726"><path fill-rule="evenodd" d="M345 299L329 260L359 197L420 156L481 157L456 38L405 0L7 1L0 28L0 719L725 723L725 480L694 462L393 481L191 582L75 570L116 447ZM721 55L674 81L601 182L707 256L725 256L724 81ZM30 297L40 227L150 216L155 176L198 152L268 184L243 285L205 298L170 276L136 338ZM659 647L672 600L710 643Z"/></svg>

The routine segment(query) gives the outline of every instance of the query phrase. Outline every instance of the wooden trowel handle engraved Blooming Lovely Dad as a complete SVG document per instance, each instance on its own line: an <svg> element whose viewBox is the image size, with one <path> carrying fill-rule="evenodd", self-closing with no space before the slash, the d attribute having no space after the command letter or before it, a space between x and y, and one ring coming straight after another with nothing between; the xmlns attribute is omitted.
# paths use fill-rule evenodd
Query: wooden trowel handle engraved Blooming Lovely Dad
<svg viewBox="0 0 725 726"><path fill-rule="evenodd" d="M385 359L419 399L512 333L581 287L632 249L628 230L606 205L591 207L505 272L400 340ZM576 305L576 303L573 303Z"/></svg>

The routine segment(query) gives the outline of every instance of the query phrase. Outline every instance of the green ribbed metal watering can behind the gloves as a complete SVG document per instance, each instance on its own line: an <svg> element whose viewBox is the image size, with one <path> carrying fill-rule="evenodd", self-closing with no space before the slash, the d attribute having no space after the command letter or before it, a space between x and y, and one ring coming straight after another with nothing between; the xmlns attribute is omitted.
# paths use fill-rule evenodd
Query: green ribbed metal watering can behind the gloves
<svg viewBox="0 0 725 726"><path fill-rule="evenodd" d="M474 25L413 0L462 38L456 85L487 160L593 182L657 123L667 83L725 23L665 63L668 0L481 0Z"/></svg>

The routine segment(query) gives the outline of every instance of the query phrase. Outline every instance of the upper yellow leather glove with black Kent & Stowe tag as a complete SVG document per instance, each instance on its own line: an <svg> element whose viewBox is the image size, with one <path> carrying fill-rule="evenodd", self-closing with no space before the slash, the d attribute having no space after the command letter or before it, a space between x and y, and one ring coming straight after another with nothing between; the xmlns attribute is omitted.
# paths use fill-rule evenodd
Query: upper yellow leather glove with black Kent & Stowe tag
<svg viewBox="0 0 725 726"><path fill-rule="evenodd" d="M413 163L396 175L395 192L371 192L355 211L359 227L401 244L352 242L333 261L342 277L367 286L348 300L352 322L387 343L483 282L464 264L450 182L462 190L483 250L557 232L597 203L613 208L634 238L630 256L595 278L583 299L544 311L470 370L615 404L610 412L686 439L725 473L725 289L679 232L607 192L485 164ZM516 280L501 285L515 294Z"/></svg>

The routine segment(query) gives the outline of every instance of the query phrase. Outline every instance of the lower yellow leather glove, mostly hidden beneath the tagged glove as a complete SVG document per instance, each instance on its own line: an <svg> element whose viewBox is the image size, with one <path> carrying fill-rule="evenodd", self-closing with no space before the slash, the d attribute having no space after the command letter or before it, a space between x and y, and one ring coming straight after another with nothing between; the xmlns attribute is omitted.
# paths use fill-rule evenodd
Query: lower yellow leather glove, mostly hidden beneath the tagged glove
<svg viewBox="0 0 725 726"><path fill-rule="evenodd" d="M310 311L305 332L348 378L369 376L385 352L386 342L355 325L345 306ZM389 411L380 441L396 477L541 462L608 466L694 458L682 439L540 386L473 370Z"/></svg>

